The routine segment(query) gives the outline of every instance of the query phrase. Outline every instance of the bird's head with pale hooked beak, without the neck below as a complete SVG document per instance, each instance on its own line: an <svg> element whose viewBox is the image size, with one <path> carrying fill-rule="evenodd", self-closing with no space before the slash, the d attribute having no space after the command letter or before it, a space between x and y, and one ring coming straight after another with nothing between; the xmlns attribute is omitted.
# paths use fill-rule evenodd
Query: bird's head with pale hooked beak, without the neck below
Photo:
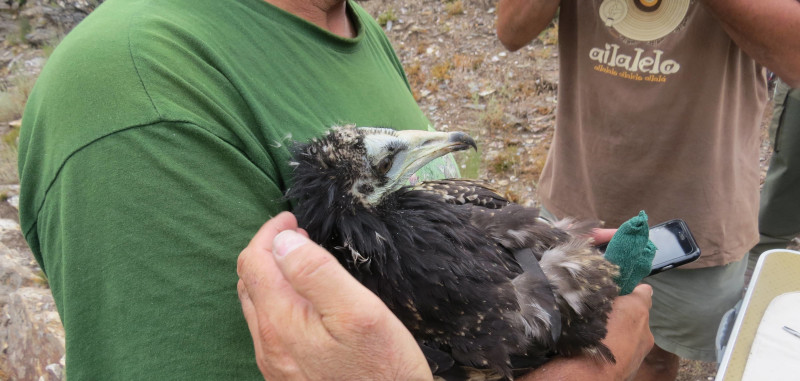
<svg viewBox="0 0 800 381"><path fill-rule="evenodd" d="M296 147L291 198L322 198L328 207L374 209L431 160L476 148L462 132L334 127ZM323 206L323 205L318 205Z"/></svg>

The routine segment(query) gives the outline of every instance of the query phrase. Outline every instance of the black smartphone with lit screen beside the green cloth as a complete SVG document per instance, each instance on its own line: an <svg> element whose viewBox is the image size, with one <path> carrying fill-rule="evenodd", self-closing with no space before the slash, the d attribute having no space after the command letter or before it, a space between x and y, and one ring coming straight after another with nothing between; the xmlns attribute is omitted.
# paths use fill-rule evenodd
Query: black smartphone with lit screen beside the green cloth
<svg viewBox="0 0 800 381"><path fill-rule="evenodd" d="M700 248L686 222L681 219L651 227L650 240L656 245L656 256L653 258L650 275L687 264L700 257Z"/></svg>

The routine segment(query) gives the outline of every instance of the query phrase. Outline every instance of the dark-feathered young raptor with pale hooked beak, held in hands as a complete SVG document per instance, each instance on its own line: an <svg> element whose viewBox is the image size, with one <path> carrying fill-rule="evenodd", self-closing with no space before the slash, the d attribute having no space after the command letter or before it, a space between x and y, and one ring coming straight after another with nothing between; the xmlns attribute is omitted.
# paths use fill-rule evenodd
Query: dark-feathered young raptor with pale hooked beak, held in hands
<svg viewBox="0 0 800 381"><path fill-rule="evenodd" d="M437 379L510 380L555 356L614 362L602 339L618 268L588 238L596 223L549 223L479 180L408 182L468 149L463 132L333 126L295 143L285 196Z"/></svg>

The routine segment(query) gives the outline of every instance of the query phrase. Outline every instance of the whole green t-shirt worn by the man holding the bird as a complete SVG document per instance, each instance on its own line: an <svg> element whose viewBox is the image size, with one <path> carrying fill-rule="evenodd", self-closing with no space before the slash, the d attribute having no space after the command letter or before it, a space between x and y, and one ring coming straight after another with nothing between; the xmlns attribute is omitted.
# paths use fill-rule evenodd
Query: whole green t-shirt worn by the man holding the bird
<svg viewBox="0 0 800 381"><path fill-rule="evenodd" d="M349 9L353 39L263 0L109 0L55 50L23 117L20 220L68 379L261 378L236 259L290 208L291 142L431 128Z"/></svg>

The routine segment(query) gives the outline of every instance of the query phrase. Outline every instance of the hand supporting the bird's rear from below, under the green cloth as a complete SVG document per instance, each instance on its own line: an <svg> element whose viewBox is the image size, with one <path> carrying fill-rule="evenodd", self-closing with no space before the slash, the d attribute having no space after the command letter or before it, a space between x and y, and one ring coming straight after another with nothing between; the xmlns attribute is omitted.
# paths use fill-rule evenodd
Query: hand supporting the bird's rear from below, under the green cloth
<svg viewBox="0 0 800 381"><path fill-rule="evenodd" d="M616 363L593 360L588 356L557 357L520 380L628 380L653 347L649 311L653 289L637 286L632 293L614 300L608 317L608 334L603 343L611 349Z"/></svg>

